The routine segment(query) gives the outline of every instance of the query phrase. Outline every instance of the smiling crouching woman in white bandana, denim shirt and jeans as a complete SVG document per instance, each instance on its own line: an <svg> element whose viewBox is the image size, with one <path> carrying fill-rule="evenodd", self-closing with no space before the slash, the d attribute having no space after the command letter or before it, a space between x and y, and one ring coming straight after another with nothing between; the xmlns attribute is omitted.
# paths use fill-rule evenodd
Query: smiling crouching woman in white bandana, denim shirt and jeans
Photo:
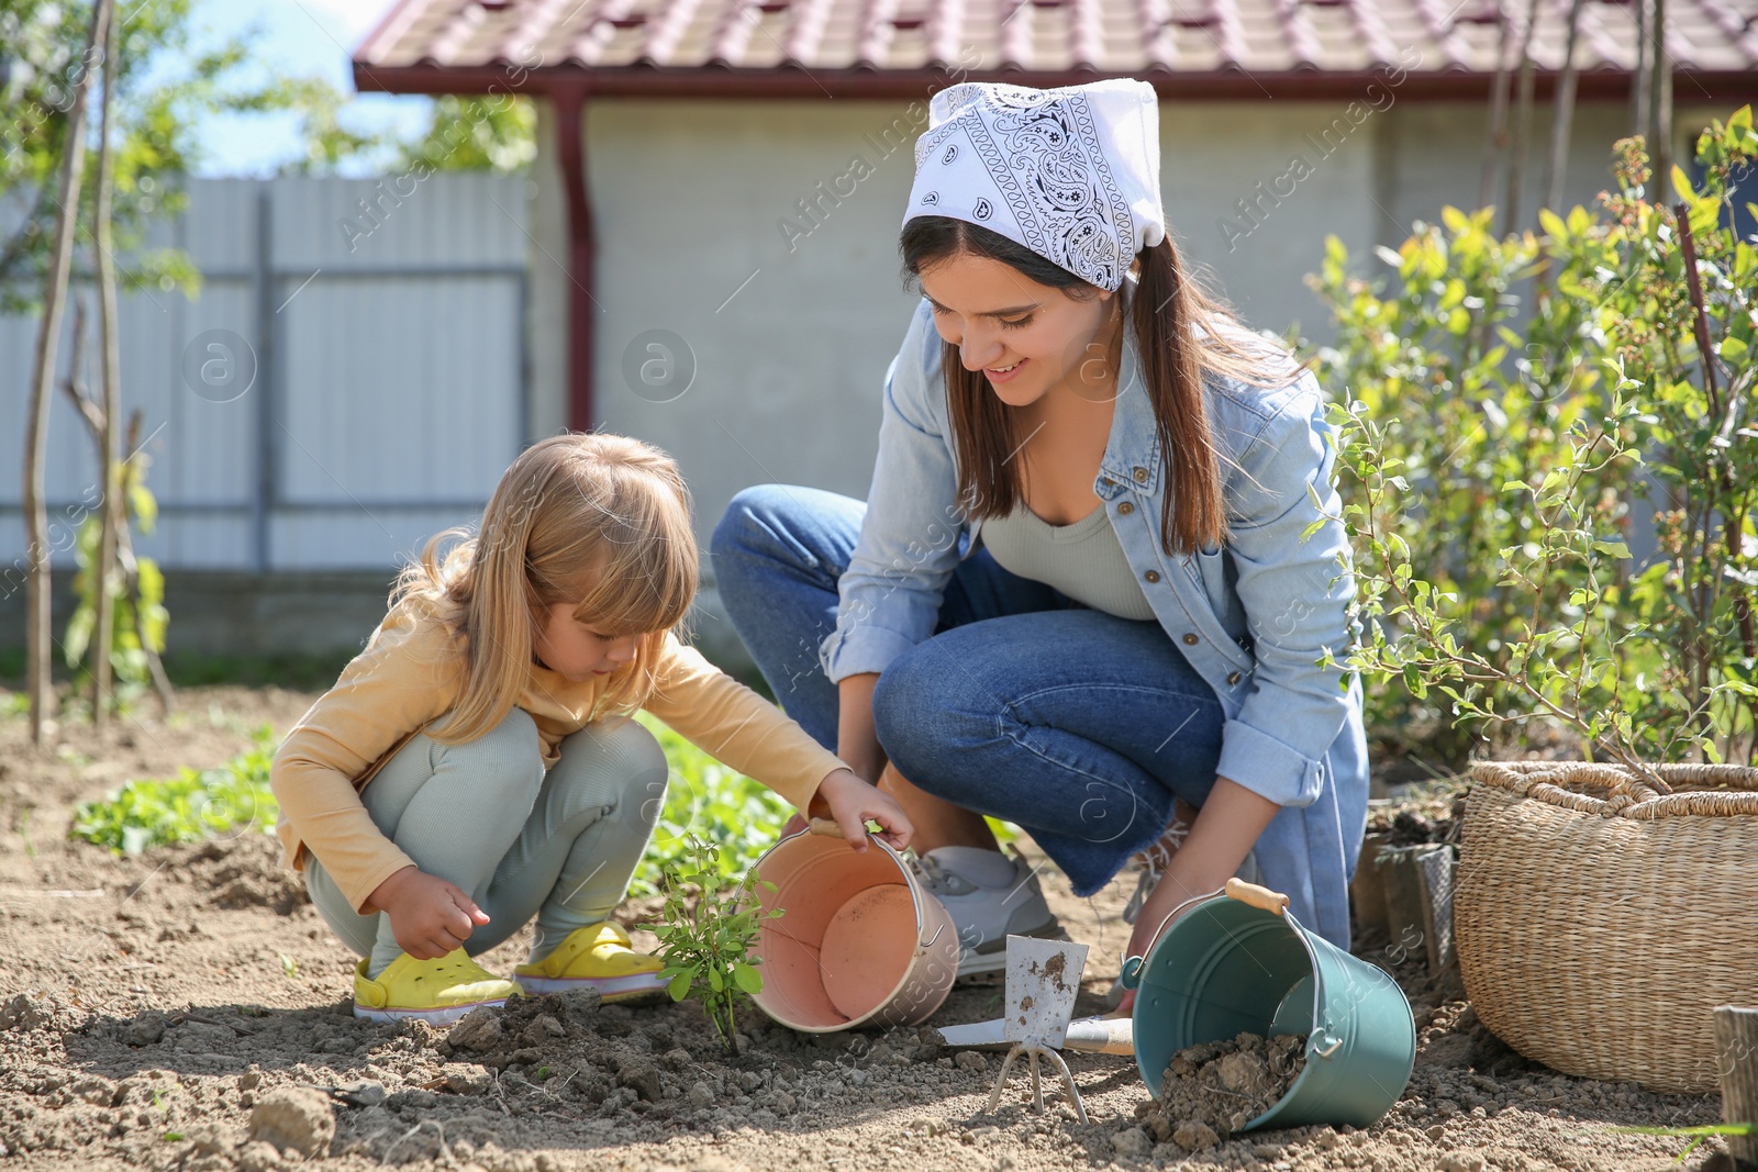
<svg viewBox="0 0 1758 1172"><path fill-rule="evenodd" d="M935 95L865 506L749 488L714 534L781 703L914 822L962 975L1057 930L984 814L1076 894L1134 857L1132 954L1253 865L1348 944L1368 768L1324 401L1188 279L1157 144L1139 81Z"/></svg>

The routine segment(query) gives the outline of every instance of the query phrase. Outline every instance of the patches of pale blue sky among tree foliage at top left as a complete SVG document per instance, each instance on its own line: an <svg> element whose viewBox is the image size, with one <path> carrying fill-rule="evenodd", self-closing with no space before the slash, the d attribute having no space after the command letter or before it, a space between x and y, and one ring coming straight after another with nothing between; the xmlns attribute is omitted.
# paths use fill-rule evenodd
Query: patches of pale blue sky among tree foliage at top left
<svg viewBox="0 0 1758 1172"><path fill-rule="evenodd" d="M431 102L415 95L360 93L353 90L348 58L394 0L195 0L190 11L197 44L218 44L243 35L253 25L255 76L265 79L269 63L287 76L316 76L331 81L353 102L341 114L352 130L389 128L413 135L427 125ZM269 176L302 155L295 114L211 116L199 125L202 155L199 176ZM373 174L369 160L345 165L343 174Z"/></svg>

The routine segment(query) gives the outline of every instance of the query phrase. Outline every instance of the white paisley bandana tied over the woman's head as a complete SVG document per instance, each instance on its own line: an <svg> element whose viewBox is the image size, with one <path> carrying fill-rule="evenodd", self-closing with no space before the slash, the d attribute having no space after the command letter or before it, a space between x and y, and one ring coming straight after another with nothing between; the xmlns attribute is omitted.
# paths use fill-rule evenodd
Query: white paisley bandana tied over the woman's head
<svg viewBox="0 0 1758 1172"><path fill-rule="evenodd" d="M1136 253L1166 239L1153 86L941 90L916 139L904 223L916 216L983 225L1116 292Z"/></svg>

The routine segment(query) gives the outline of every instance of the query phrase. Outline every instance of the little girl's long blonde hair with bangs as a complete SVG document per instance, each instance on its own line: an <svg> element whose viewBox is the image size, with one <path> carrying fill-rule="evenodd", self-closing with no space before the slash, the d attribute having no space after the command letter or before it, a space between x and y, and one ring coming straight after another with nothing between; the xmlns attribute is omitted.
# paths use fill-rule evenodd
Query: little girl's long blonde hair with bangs
<svg viewBox="0 0 1758 1172"><path fill-rule="evenodd" d="M462 538L445 557L440 546ZM447 529L397 576L392 606L411 603L466 636L464 691L429 736L482 736L512 710L548 608L603 634L640 634L592 719L640 708L656 687L665 636L696 596L700 561L689 488L665 452L607 434L552 436L501 476L476 532ZM584 592L584 596L582 596Z"/></svg>

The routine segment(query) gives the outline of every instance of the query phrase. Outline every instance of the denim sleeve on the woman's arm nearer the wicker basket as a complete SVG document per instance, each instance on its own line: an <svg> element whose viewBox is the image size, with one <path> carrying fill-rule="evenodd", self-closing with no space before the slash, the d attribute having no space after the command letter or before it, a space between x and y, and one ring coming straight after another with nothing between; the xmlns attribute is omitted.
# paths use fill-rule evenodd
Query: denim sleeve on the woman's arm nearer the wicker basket
<svg viewBox="0 0 1758 1172"><path fill-rule="evenodd" d="M1324 397L1308 373L1243 453L1229 492L1245 504L1229 518L1227 550L1257 669L1222 727L1217 773L1283 807L1318 798L1326 752L1352 703L1338 666L1354 643L1354 576L1334 462Z"/></svg>

